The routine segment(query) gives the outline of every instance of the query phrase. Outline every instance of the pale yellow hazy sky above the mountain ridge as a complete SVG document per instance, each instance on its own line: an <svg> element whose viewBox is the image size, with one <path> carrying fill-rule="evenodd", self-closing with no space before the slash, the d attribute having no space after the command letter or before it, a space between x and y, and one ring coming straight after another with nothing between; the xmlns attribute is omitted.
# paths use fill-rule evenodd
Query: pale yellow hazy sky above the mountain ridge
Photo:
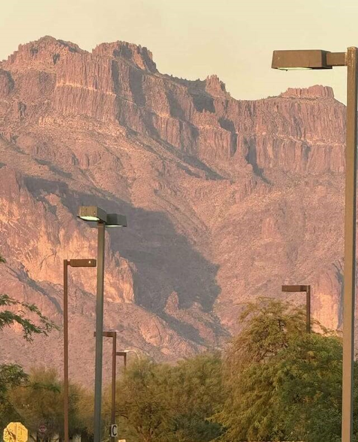
<svg viewBox="0 0 358 442"><path fill-rule="evenodd" d="M358 46L356 0L0 0L0 60L44 35L92 50L124 40L153 52L158 70L216 73L237 99L324 84L346 101L346 69L270 69L275 49Z"/></svg>

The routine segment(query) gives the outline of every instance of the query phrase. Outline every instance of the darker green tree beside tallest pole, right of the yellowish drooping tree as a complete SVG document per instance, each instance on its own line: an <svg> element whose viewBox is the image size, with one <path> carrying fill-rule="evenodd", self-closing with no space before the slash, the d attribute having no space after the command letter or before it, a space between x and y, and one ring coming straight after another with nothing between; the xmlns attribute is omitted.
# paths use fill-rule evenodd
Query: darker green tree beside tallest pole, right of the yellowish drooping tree
<svg viewBox="0 0 358 442"><path fill-rule="evenodd" d="M340 339L305 333L282 353L275 370L286 434L308 442L336 441L341 433Z"/></svg>

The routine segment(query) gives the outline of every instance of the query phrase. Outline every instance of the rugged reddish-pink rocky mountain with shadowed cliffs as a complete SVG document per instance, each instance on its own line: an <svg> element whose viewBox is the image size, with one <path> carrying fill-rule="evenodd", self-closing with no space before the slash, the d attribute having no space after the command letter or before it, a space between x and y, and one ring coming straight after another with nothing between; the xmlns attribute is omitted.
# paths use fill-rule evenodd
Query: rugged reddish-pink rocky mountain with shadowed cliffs
<svg viewBox="0 0 358 442"><path fill-rule="evenodd" d="M167 360L222 347L241 304L283 283L311 284L314 316L339 327L344 114L331 88L239 101L217 76L163 75L125 42L19 46L0 63L0 290L61 323L62 260L96 253L76 209L96 204L129 223L106 238L119 347ZM71 374L90 382L95 271L70 278ZM7 334L1 354L60 365L61 336L19 356Z"/></svg>

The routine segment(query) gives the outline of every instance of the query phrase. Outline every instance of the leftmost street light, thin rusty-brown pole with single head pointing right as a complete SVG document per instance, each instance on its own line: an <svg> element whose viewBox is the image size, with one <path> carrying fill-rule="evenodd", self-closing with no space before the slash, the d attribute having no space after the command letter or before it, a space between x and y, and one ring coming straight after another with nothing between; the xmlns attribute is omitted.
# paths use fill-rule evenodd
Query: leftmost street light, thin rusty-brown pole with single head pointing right
<svg viewBox="0 0 358 442"><path fill-rule="evenodd" d="M96 267L96 259L63 260L63 414L65 442L69 442L68 266Z"/></svg>

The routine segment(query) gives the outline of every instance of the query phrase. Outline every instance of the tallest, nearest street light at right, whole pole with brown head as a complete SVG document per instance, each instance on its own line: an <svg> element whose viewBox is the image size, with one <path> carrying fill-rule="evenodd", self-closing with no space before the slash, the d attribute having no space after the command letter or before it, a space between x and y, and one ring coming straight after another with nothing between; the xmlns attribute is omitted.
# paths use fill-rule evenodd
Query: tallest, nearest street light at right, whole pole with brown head
<svg viewBox="0 0 358 442"><path fill-rule="evenodd" d="M349 47L346 53L322 50L273 51L273 69L332 69L333 66L347 67L342 442L351 442L353 433L358 48Z"/></svg>

